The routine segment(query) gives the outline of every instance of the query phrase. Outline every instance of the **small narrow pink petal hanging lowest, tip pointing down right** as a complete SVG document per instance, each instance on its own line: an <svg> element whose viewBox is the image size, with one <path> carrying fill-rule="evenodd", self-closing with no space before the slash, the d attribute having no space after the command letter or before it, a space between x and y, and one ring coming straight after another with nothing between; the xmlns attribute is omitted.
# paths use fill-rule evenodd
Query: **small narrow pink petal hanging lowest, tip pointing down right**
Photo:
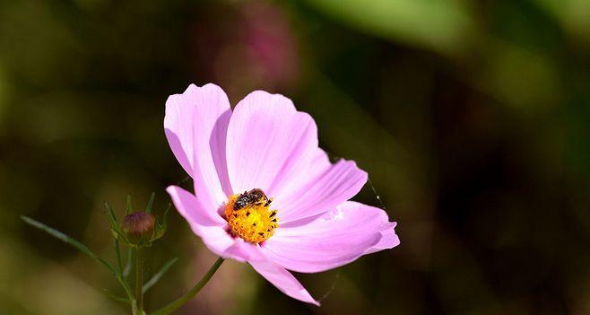
<svg viewBox="0 0 590 315"><path fill-rule="evenodd" d="M250 261L249 263L258 274L264 276L268 282L276 286L282 293L291 296L293 299L319 306L319 302L314 300L311 294L308 293L308 290L285 268L277 266L268 260Z"/></svg>

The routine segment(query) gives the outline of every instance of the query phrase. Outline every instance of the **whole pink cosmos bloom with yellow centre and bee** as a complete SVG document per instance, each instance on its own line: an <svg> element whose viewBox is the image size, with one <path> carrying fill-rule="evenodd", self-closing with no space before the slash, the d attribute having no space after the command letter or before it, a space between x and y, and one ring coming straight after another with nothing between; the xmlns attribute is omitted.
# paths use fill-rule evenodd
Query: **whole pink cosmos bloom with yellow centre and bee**
<svg viewBox="0 0 590 315"><path fill-rule="evenodd" d="M385 211L348 201L367 181L332 164L317 126L279 94L251 92L233 112L214 84L166 101L164 130L195 194L167 191L208 249L247 261L282 293L319 303L288 270L317 273L399 244Z"/></svg>

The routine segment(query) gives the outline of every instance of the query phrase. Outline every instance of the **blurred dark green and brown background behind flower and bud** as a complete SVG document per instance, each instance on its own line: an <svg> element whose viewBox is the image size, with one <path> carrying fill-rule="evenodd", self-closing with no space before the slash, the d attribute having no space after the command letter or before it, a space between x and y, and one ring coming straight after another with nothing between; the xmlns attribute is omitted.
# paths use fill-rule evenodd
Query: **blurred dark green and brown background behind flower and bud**
<svg viewBox="0 0 590 315"><path fill-rule="evenodd" d="M369 171L402 244L298 275L291 300L227 262L179 314L590 313L590 2L0 2L0 313L125 314L114 278L20 220L114 258L102 202L156 213L191 183L169 94L281 92ZM176 212L149 249L154 310L214 261Z"/></svg>

